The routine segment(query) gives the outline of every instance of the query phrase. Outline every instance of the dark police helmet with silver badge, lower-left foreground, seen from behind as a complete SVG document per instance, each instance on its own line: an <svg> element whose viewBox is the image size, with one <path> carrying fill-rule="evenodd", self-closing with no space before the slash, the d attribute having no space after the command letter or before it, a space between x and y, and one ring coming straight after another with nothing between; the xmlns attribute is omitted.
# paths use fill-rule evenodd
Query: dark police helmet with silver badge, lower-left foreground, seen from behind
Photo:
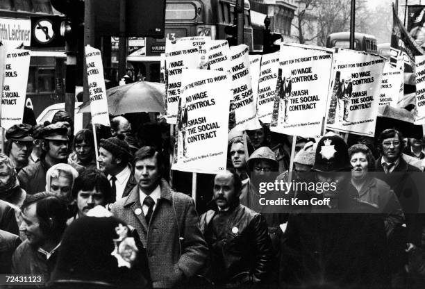
<svg viewBox="0 0 425 289"><path fill-rule="evenodd" d="M63 234L49 286L147 288L146 250L133 235L116 217L78 218Z"/></svg>

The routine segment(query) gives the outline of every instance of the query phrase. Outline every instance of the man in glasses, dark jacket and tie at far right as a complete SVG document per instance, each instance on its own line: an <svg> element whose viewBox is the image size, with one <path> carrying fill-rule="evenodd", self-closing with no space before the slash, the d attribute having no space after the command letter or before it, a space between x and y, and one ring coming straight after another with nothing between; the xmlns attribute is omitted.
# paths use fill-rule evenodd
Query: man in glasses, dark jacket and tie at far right
<svg viewBox="0 0 425 289"><path fill-rule="evenodd" d="M419 209L419 194L411 172L420 172L417 167L409 165L401 157L405 144L403 135L395 129L385 129L378 138L378 149L381 157L376 160L376 172L381 172L377 177L390 185L399 198L401 208L406 217L407 232L399 228L389 236L390 263L392 263L392 285L402 286L406 276L403 266L406 262L406 252L413 253L421 244L422 226L424 217L417 214ZM410 254L411 256L412 254Z"/></svg>

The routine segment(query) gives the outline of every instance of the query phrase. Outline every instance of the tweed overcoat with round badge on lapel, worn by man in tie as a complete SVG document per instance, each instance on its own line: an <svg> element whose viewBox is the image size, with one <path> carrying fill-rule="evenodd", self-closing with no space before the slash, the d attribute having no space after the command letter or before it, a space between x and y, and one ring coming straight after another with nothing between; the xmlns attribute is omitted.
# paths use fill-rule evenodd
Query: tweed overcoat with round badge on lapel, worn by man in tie
<svg viewBox="0 0 425 289"><path fill-rule="evenodd" d="M147 224L139 187L113 204L111 212L135 228L149 259L153 288L171 288L194 276L206 261L207 247L199 230L194 201L160 181L161 195Z"/></svg>

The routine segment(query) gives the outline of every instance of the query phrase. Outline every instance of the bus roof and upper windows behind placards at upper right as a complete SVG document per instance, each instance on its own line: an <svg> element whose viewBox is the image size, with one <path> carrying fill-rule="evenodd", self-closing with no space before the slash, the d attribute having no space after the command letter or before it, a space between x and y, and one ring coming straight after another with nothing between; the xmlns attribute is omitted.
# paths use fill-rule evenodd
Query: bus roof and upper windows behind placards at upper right
<svg viewBox="0 0 425 289"><path fill-rule="evenodd" d="M329 34L326 39L326 47L349 48L350 33L336 32ZM378 53L375 36L358 32L354 33L354 50Z"/></svg>

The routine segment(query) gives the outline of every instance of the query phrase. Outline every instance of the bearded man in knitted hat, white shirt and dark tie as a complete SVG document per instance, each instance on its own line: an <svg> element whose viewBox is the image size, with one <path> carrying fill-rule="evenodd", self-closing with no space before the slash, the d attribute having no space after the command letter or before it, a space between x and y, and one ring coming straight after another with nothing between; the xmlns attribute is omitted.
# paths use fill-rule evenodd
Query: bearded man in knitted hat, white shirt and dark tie
<svg viewBox="0 0 425 289"><path fill-rule="evenodd" d="M124 141L124 135L101 139L99 144L99 168L108 176L112 188L112 202L126 197L136 185L128 162L131 158L130 147Z"/></svg>

